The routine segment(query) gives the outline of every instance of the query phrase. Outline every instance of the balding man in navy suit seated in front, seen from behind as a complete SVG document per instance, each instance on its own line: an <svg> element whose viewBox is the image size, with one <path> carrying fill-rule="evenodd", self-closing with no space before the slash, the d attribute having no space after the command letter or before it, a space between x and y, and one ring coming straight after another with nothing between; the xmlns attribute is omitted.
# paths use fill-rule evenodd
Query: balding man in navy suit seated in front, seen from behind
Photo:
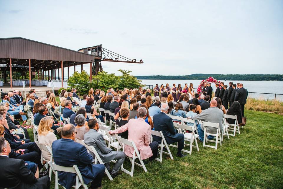
<svg viewBox="0 0 283 189"><path fill-rule="evenodd" d="M76 137L75 126L66 124L62 128L62 138L52 143L53 159L55 164L73 167L77 165L85 184L90 183L91 188L101 186L105 166L103 164L92 164L93 157L88 153L85 146L74 142ZM76 174L69 172L58 172L59 183L69 189L75 185Z"/></svg>

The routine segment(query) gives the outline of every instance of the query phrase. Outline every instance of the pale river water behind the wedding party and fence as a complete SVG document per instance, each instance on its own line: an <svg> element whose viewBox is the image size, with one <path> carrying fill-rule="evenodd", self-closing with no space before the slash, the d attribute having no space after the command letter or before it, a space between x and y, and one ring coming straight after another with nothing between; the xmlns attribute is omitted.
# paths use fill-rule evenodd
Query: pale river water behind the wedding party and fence
<svg viewBox="0 0 283 189"><path fill-rule="evenodd" d="M169 86L172 87L173 83L176 84L176 87L178 84L181 84L181 87L185 87L185 83L190 85L190 83L193 84L193 87L198 88L198 85L200 84L202 80L156 80L156 79L141 79L142 84L144 85L155 85L158 84L159 86L161 84L166 85L166 83L169 83ZM236 83L242 83L244 88L248 90L248 92L256 92L256 93L273 93L273 94L254 94L254 93L249 93L249 97L254 97L257 99L269 99L272 100L276 95L276 99L283 101L283 95L278 95L278 94L283 94L283 82L279 81L222 81L224 84L226 84L229 87L229 82L233 82L234 84ZM215 84L211 84L211 87L213 89L216 89Z"/></svg>

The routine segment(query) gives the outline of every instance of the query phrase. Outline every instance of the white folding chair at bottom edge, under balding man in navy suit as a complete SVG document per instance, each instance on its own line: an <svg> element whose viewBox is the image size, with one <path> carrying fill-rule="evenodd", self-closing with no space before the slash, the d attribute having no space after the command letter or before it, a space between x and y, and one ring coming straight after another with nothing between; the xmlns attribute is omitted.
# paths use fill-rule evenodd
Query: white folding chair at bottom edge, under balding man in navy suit
<svg viewBox="0 0 283 189"><path fill-rule="evenodd" d="M48 162L50 168L55 172L55 189L59 188L59 177L58 177L58 171L62 172L70 172L76 174L76 181L75 186L73 188L79 189L80 186L83 186L84 189L88 189L88 186L83 182L83 177L80 174L80 170L78 169L77 165L74 165L73 167L63 167L60 165L56 165L55 163Z"/></svg>

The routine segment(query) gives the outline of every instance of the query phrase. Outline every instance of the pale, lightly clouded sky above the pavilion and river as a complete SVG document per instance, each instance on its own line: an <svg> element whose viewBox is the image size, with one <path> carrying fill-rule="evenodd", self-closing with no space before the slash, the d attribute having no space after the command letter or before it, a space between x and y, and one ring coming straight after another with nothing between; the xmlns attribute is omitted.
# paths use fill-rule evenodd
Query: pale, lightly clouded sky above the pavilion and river
<svg viewBox="0 0 283 189"><path fill-rule="evenodd" d="M283 74L280 0L0 1L0 22L0 38L72 50L102 44L143 60L101 62L117 75Z"/></svg>

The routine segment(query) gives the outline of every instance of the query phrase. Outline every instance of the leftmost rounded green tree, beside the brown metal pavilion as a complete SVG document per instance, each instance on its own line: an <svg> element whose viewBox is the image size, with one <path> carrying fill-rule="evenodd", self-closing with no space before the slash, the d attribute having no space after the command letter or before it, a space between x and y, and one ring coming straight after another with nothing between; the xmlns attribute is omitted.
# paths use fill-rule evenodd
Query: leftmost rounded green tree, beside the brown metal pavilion
<svg viewBox="0 0 283 189"><path fill-rule="evenodd" d="M89 75L83 70L81 73L75 71L68 81L69 88L76 88L77 93L88 94Z"/></svg>

